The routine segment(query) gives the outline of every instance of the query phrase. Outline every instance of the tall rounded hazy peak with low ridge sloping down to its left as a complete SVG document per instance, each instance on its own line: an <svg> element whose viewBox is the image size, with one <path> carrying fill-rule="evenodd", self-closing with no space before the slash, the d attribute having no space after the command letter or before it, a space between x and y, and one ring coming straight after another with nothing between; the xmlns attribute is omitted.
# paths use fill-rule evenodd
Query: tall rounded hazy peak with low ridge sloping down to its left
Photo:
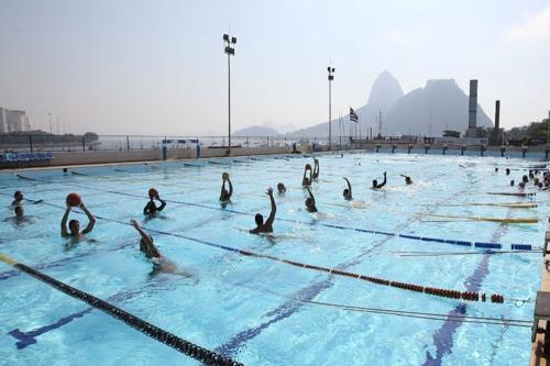
<svg viewBox="0 0 550 366"><path fill-rule="evenodd" d="M358 125L358 131L362 131L362 135L366 132L367 121L372 120L374 117L378 115L382 111L383 114L389 112L393 106L403 97L403 89L399 81L389 74L389 71L384 71L380 74L374 80L373 87L371 88L371 93L369 96L369 101L365 106L355 109L355 112L361 119L361 124ZM345 115L343 120L343 135L350 135L350 119L349 114ZM338 136L339 133L338 119L332 120L332 134ZM352 125L354 132L355 125ZM301 129L295 132L288 133L289 136L328 136L329 134L329 123L316 124L311 127ZM359 134L358 134L359 135Z"/></svg>

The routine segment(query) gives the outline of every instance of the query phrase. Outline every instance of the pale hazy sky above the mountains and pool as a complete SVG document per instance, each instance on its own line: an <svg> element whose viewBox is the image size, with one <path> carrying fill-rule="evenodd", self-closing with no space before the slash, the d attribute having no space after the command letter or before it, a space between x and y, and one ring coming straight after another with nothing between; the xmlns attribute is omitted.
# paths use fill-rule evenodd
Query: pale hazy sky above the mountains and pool
<svg viewBox="0 0 550 366"><path fill-rule="evenodd" d="M384 70L405 92L479 79L507 129L550 110L550 0L0 0L0 107L45 131L224 135L228 32L233 131L326 122L329 64L333 117Z"/></svg>

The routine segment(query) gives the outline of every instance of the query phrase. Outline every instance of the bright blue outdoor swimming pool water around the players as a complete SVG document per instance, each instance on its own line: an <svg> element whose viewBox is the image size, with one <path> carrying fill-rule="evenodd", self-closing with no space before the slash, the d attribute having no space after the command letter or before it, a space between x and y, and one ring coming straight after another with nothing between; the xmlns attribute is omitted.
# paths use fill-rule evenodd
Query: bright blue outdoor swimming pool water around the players
<svg viewBox="0 0 550 366"><path fill-rule="evenodd" d="M32 223L2 223L0 253L245 365L528 363L531 299L540 282L536 248L543 243L550 200L546 192L529 199L487 192L517 191L509 180L517 182L532 160L382 153L318 158L320 178L312 185L317 214L304 209L300 186L311 157L18 173L32 180L2 173L2 218L12 215L9 203L15 189L44 202L25 203ZM505 167L514 169L510 176ZM384 170L385 189L370 189ZM230 173L234 186L226 208L218 202L222 171ZM414 184L406 186L402 174ZM342 177L350 179L361 202L343 200ZM275 193L274 235L249 234L254 214L268 214L265 190L278 181L288 190ZM151 187L167 207L161 217L144 221ZM59 221L65 197L73 191L98 222L87 241L67 247ZM538 208L472 204L534 201ZM85 217L74 217L86 224ZM464 219L473 217L542 220L502 224ZM164 256L193 276L153 275L129 225L131 218L143 222ZM499 246L487 253L476 243ZM513 251L517 244L532 251ZM421 286L503 293L505 302L436 297L274 258ZM0 293L0 363L198 364L3 264ZM468 318L458 318L462 315Z"/></svg>

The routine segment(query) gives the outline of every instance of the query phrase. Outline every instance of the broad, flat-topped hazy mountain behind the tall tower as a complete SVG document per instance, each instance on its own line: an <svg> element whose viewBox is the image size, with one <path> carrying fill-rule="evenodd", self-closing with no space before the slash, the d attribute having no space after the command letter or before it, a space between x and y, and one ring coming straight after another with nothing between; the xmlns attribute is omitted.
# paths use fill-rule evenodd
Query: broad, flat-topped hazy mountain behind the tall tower
<svg viewBox="0 0 550 366"><path fill-rule="evenodd" d="M383 114L383 134L430 135L430 126L433 136L441 136L443 130L463 132L468 127L468 103L469 96L453 79L428 80L424 88L400 98L387 115ZM480 104L477 126L493 126Z"/></svg>

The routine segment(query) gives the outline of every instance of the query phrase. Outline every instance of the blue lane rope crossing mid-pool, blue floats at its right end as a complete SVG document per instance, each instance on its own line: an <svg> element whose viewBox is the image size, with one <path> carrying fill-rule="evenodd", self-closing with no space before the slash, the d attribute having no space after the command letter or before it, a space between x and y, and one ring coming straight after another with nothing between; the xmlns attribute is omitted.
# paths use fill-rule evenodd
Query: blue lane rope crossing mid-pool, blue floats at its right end
<svg viewBox="0 0 550 366"><path fill-rule="evenodd" d="M40 178L29 178L24 177L21 175L16 175L18 177L22 179L28 179L28 180L35 180L35 181L44 181L47 184L54 184L54 185L63 185L63 186L70 186L70 187L77 187L77 188L84 188L84 189L94 189L97 191L106 192L106 193L112 193L112 195L121 195L121 196L128 196L128 197L135 197L140 199L145 199L145 196L140 196L140 195L133 195L133 193L127 193L127 192L119 192L114 190L109 190L109 189L100 189L100 188L90 188L90 187L85 187L81 185L75 185L75 184L67 184L67 182L59 182L59 181L52 181L52 180L46 180L46 179L40 179ZM222 209L218 207L211 207L211 206L206 206L206 204L200 204L200 203L191 203L191 202L185 202L185 201L177 201L177 200L170 200L166 199L166 202L173 202L173 203L180 203L185 206L190 206L190 207L199 207L204 209L209 209L209 210L217 210L217 211L222 211L222 212L231 212L235 214L243 214L243 215L249 215L253 217L254 213L250 212L243 212L243 211L238 211L238 210L231 210L231 209ZM418 235L408 235L408 234L397 234L397 233L389 233L389 232L383 232L383 231L375 231L375 230L367 230L367 229L360 229L360 228L353 228L353 226L343 226L343 225L336 225L336 224L329 224L329 223L321 223L321 222L307 222L307 221L300 221L300 220L293 220L293 219L276 219L277 221L282 222L290 222L290 223L298 223L298 224L305 224L305 225L310 225L310 226L324 226L324 228L331 228L331 229L340 229L340 230L350 230L350 231L355 231L355 232L361 232L361 233L366 233L366 234L373 234L373 235L385 235L385 236L398 236L402 239L408 239L408 240L416 240L416 241L422 241L422 242L437 242L437 243L443 243L443 244L451 244L451 245L461 245L461 246L474 246L474 247L485 247L486 244L491 244L493 249L498 249L503 248L504 244L502 243L481 243L481 242L471 242L471 241L459 241L459 240L446 240L446 239L438 239L438 237L428 237L428 236L418 236ZM525 246L524 249L527 247L532 248L530 244L513 244L513 245L521 245ZM538 247L537 247L538 248Z"/></svg>

